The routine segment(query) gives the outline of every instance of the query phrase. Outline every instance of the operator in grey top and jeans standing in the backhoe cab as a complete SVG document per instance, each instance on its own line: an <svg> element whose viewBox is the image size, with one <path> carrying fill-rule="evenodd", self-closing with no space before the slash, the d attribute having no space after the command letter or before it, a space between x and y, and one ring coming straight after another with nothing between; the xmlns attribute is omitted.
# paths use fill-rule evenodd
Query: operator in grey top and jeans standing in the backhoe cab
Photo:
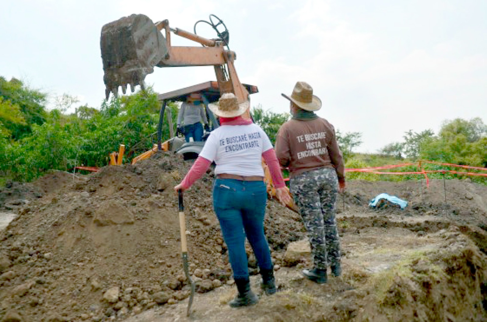
<svg viewBox="0 0 487 322"><path fill-rule="evenodd" d="M205 108L201 105L201 95L191 93L179 108L178 131L184 134L186 142L189 142L190 138L193 138L193 141L203 141L202 122L206 130L209 130Z"/></svg>

